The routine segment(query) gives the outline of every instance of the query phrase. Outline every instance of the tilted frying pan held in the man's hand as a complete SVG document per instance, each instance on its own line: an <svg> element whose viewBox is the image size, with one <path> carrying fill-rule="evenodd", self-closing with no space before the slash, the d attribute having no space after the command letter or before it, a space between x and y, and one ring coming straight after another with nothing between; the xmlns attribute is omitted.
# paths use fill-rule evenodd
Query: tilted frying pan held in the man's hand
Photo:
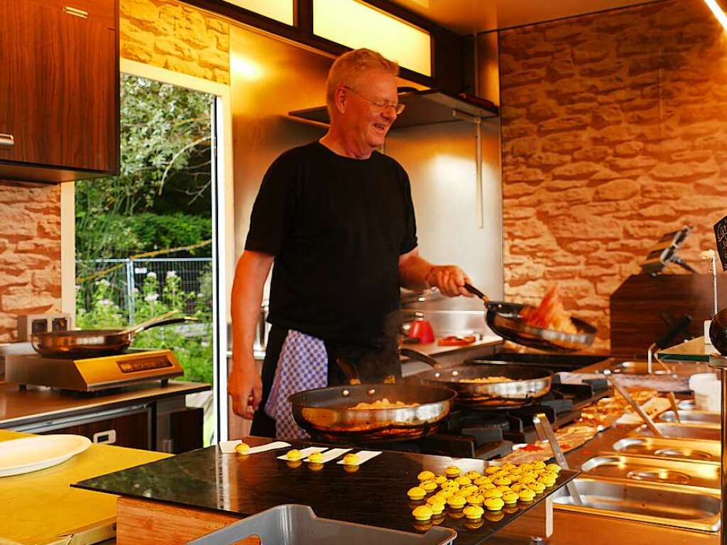
<svg viewBox="0 0 727 545"><path fill-rule="evenodd" d="M503 339L538 350L567 352L584 350L593 344L596 328L590 323L571 318L571 323L578 331L575 334L530 326L521 316L523 308L527 305L490 301L485 294L470 284L465 284L465 289L482 299L486 308L487 325Z"/></svg>

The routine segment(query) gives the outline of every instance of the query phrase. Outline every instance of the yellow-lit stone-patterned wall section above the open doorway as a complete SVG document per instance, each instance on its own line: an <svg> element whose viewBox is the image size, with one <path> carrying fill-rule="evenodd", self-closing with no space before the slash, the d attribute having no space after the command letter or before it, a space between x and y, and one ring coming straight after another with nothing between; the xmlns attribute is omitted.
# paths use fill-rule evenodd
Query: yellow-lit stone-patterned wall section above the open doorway
<svg viewBox="0 0 727 545"><path fill-rule="evenodd" d="M230 25L173 0L121 0L121 57L230 83Z"/></svg>

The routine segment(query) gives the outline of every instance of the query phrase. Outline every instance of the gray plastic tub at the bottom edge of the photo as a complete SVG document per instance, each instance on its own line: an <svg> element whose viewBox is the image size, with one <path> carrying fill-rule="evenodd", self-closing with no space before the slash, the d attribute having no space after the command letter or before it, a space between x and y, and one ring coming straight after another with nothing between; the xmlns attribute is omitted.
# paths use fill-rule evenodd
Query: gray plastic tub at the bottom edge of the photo
<svg viewBox="0 0 727 545"><path fill-rule="evenodd" d="M307 505L278 505L216 530L188 545L233 545L258 536L262 545L451 545L457 532L435 526L416 534L316 517Z"/></svg>

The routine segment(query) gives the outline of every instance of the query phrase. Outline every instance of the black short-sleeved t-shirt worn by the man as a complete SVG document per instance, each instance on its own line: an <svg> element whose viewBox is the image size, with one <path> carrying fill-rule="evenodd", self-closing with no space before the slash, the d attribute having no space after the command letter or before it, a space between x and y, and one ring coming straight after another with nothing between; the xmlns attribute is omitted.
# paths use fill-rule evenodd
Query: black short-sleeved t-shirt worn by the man
<svg viewBox="0 0 727 545"><path fill-rule="evenodd" d="M377 346L398 308L398 259L417 247L409 177L392 158L339 156L320 142L273 162L245 248L276 256L269 321Z"/></svg>

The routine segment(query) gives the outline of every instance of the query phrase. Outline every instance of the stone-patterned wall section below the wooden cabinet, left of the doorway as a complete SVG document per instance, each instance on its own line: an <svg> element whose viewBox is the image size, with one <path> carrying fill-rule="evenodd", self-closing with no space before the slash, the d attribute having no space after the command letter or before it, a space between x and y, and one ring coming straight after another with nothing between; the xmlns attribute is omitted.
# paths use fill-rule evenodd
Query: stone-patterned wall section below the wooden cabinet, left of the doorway
<svg viewBox="0 0 727 545"><path fill-rule="evenodd" d="M0 182L0 342L16 316L60 311L60 186Z"/></svg>

